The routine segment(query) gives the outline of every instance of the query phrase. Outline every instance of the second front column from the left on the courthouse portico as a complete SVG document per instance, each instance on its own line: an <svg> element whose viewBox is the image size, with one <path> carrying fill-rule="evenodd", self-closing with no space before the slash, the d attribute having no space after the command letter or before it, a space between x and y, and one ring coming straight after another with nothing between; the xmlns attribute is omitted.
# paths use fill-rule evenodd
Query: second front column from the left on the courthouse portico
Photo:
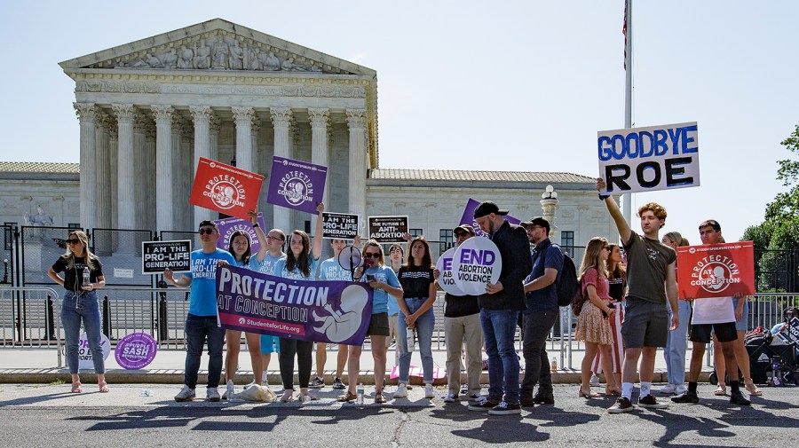
<svg viewBox="0 0 799 448"><path fill-rule="evenodd" d="M117 169L116 169L116 208L117 228L133 229L136 224L136 194L134 192L133 167L133 115L136 108L132 104L111 105L116 114L117 127Z"/></svg>

